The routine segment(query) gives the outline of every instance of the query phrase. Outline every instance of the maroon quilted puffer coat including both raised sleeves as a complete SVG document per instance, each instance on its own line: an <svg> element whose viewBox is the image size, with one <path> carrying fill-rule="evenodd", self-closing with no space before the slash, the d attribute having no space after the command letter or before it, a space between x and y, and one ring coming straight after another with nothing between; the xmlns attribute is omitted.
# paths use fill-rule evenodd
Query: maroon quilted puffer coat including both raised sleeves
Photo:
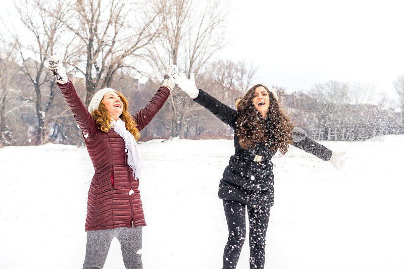
<svg viewBox="0 0 404 269"><path fill-rule="evenodd" d="M97 128L70 81L58 86L83 132L95 170L88 191L85 231L145 226L139 181L128 166L123 138L113 129L104 133ZM148 104L132 116L139 131L159 112L169 95L168 88L160 87ZM130 190L134 191L131 195Z"/></svg>

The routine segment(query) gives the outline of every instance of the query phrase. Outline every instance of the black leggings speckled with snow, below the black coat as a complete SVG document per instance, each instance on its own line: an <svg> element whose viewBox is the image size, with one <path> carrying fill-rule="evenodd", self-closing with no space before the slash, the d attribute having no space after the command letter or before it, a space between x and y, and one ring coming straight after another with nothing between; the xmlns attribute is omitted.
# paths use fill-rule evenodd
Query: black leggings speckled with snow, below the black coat
<svg viewBox="0 0 404 269"><path fill-rule="evenodd" d="M223 269L235 268L245 239L245 205L223 200L229 238L224 248ZM249 267L264 268L265 235L267 234L270 207L247 206L249 221Z"/></svg>

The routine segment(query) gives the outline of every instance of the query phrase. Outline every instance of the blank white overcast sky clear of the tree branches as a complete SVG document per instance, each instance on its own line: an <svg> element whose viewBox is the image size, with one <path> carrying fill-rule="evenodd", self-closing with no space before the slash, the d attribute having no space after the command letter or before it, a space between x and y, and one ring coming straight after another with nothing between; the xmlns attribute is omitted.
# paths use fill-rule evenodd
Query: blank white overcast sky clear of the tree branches
<svg viewBox="0 0 404 269"><path fill-rule="evenodd" d="M10 14L13 1L0 11ZM328 80L376 85L398 96L404 75L404 1L232 0L220 56L259 66L259 81L289 91ZM17 18L16 18L17 19Z"/></svg>

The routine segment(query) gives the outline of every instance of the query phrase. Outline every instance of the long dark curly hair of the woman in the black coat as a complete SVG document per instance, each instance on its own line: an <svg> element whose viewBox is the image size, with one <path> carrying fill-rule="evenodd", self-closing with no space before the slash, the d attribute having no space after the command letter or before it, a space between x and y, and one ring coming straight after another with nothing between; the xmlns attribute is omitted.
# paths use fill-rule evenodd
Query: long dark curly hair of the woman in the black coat
<svg viewBox="0 0 404 269"><path fill-rule="evenodd" d="M252 102L255 90L264 87L269 96L269 110L264 119ZM236 135L242 148L255 147L269 141L270 149L285 154L292 143L293 124L282 112L278 101L265 85L252 86L242 98L236 100L238 111Z"/></svg>

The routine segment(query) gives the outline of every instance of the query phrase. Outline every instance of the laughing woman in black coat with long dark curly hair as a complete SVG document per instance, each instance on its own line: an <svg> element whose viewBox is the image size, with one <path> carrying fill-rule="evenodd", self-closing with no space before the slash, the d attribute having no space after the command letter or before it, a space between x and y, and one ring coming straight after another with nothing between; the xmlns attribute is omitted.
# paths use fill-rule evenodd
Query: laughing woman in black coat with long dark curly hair
<svg viewBox="0 0 404 269"><path fill-rule="evenodd" d="M194 76L175 75L178 86L234 130L235 154L230 157L219 185L219 198L229 229L223 268L235 268L245 239L245 208L249 220L250 268L264 268L265 236L274 204L271 157L289 144L304 149L339 168L342 160L308 137L292 139L293 124L282 113L274 89L257 84L236 101L236 109L221 103L195 86ZM300 140L300 141L299 141Z"/></svg>

